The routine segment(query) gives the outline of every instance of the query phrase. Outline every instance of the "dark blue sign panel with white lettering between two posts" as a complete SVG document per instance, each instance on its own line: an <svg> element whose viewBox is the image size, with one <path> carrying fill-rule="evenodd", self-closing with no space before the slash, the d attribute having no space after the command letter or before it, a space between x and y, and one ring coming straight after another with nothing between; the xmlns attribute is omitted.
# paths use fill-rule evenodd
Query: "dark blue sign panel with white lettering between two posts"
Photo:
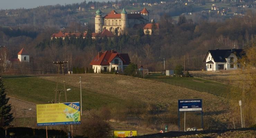
<svg viewBox="0 0 256 138"><path fill-rule="evenodd" d="M178 100L179 111L202 111L202 99Z"/></svg>

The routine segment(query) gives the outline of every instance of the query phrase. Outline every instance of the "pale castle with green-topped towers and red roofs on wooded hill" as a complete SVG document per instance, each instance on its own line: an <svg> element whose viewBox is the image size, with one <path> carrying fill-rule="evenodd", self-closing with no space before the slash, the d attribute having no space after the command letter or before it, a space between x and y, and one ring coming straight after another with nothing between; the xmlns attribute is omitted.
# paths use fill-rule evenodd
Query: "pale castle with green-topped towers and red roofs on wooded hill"
<svg viewBox="0 0 256 138"><path fill-rule="evenodd" d="M120 34L122 30L126 28L133 28L136 24L147 24L149 23L149 12L144 8L141 12L127 13L125 8L121 13L117 13L112 10L106 16L102 16L100 9L95 14L95 33L100 33L104 29L115 33L117 29Z"/></svg>

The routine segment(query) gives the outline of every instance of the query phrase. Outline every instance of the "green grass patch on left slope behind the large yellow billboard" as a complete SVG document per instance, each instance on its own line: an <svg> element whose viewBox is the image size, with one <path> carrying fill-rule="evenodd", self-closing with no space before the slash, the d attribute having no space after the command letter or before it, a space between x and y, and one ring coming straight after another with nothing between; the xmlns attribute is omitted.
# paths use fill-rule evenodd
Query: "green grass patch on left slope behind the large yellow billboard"
<svg viewBox="0 0 256 138"><path fill-rule="evenodd" d="M6 88L7 96L16 97L21 100L36 104L48 103L55 99L56 82L40 79L39 77L24 76L4 76L3 84ZM66 85L67 102L80 101L80 88ZM63 84L58 84L58 89L64 89ZM61 93L61 102L65 102L64 92ZM82 89L83 109L100 108L108 105L122 105L124 100L109 95L99 94L93 91Z"/></svg>

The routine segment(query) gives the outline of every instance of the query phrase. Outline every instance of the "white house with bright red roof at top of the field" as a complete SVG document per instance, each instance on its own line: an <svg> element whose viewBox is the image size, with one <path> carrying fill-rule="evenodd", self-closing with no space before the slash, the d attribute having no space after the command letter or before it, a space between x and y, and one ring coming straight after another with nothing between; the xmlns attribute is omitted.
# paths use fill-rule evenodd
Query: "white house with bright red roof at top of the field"
<svg viewBox="0 0 256 138"><path fill-rule="evenodd" d="M94 70L94 73L100 73L101 71L124 71L124 69L130 64L130 58L127 53L118 53L114 50L107 50L105 52L99 52L98 55L93 58L90 65Z"/></svg>

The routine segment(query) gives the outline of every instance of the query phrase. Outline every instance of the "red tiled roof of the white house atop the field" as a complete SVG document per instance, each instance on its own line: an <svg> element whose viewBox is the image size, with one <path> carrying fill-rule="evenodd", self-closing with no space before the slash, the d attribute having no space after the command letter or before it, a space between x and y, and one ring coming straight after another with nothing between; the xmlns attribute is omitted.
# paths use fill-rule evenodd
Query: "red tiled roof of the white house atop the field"
<svg viewBox="0 0 256 138"><path fill-rule="evenodd" d="M104 53L99 52L97 56L91 61L90 65L110 65L110 62L115 58L119 57L123 61L124 65L130 63L130 58L127 53L119 54L114 50L108 50Z"/></svg>

